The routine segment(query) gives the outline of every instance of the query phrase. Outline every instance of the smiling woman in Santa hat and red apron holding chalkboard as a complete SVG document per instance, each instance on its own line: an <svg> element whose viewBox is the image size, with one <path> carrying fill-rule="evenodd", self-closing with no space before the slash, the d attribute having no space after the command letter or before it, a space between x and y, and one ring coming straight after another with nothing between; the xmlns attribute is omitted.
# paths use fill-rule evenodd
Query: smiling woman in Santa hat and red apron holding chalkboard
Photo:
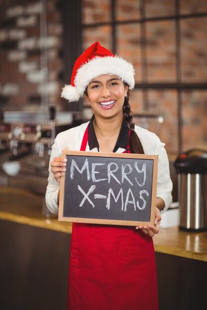
<svg viewBox="0 0 207 310"><path fill-rule="evenodd" d="M84 97L91 120L60 133L52 147L46 202L58 212L59 183L66 170L63 149L157 154L155 225L126 227L73 223L69 264L69 310L158 310L152 236L159 231L160 210L171 202L172 182L164 144L135 126L129 104L134 68L98 42L76 60L71 85L62 97Z"/></svg>

